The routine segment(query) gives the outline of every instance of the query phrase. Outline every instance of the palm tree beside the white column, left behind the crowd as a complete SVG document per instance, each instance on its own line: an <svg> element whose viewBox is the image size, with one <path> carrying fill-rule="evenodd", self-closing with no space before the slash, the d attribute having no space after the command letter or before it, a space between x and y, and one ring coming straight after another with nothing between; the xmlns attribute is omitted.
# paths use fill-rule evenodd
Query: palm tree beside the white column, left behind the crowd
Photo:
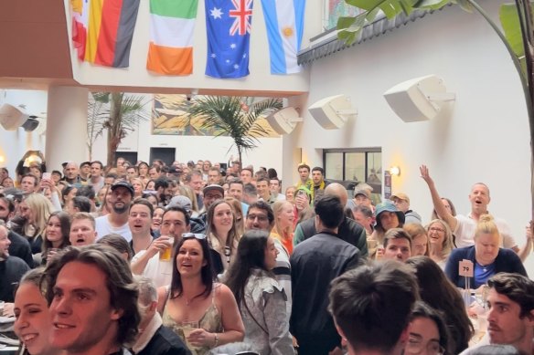
<svg viewBox="0 0 534 355"><path fill-rule="evenodd" d="M143 96L126 95L123 92L93 92L88 112L88 146L90 156L92 145L104 130L108 135L107 167L115 162L119 144L139 122L150 119L150 112L144 109L148 100Z"/></svg>

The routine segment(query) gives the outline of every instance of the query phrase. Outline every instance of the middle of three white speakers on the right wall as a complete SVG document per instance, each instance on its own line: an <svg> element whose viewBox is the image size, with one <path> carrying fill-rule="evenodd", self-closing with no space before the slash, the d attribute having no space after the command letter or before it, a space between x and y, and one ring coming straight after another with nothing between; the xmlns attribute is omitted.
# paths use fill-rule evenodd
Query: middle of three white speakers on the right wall
<svg viewBox="0 0 534 355"><path fill-rule="evenodd" d="M325 130L340 129L347 122L348 116L358 114L358 110L352 107L346 95L320 99L310 106L308 111Z"/></svg>

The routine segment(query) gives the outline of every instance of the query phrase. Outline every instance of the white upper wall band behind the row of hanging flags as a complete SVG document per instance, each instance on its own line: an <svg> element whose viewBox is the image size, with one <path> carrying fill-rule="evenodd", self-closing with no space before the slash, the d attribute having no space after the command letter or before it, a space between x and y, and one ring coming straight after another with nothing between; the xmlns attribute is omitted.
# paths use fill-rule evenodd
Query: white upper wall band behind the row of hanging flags
<svg viewBox="0 0 534 355"><path fill-rule="evenodd" d="M65 0L69 9L69 0ZM306 21L304 21L303 47L307 40L321 31L322 6L315 1L306 6ZM309 19L309 20L308 20ZM67 11L68 24L71 23ZM198 2L198 16L194 33L194 66L193 75L186 77L160 76L146 70L146 56L150 40L149 1L142 1L139 6L137 23L134 30L133 45L130 55L130 67L103 68L93 66L87 62L80 62L76 52L71 49L72 70L74 78L82 85L103 86L133 86L145 87L147 92L156 92L153 88L171 88L175 92L186 92L190 89L240 89L240 90L268 90L268 91L299 91L308 89L308 73L290 76L276 76L270 74L269 47L260 1L254 2L251 30L251 75L241 79L215 79L204 75L207 57L206 21L204 1ZM70 26L69 26L70 32ZM72 46L71 46L72 47ZM180 90L182 89L182 90ZM189 92L189 91L187 91Z"/></svg>

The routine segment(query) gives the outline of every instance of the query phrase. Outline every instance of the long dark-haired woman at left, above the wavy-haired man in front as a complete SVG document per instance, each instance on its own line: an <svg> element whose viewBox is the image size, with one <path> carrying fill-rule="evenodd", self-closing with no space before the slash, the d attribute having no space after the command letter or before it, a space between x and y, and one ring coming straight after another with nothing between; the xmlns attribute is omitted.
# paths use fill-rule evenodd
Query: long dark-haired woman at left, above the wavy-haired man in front
<svg viewBox="0 0 534 355"><path fill-rule="evenodd" d="M63 211L50 214L43 238L41 264L46 265L48 259L58 253L59 249L70 245L70 216Z"/></svg>

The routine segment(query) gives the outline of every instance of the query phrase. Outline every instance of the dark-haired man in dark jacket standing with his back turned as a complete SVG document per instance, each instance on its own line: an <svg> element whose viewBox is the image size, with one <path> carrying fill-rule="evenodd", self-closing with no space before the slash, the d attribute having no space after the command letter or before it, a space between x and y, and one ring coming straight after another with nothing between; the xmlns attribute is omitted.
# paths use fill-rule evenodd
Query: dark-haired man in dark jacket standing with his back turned
<svg viewBox="0 0 534 355"><path fill-rule="evenodd" d="M340 347L334 321L328 314L330 282L358 266L358 248L341 240L337 226L344 207L338 197L325 195L315 204L319 234L296 245L290 258L293 308L290 330L299 343L300 354L327 354Z"/></svg>

